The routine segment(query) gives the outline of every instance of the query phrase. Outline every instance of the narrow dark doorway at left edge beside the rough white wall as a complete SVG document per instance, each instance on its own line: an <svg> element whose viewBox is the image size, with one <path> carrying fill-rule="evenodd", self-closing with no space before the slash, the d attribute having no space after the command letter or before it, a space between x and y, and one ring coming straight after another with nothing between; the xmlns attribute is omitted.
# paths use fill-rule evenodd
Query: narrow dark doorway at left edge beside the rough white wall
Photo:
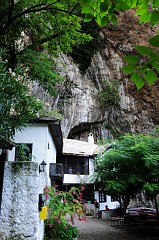
<svg viewBox="0 0 159 240"><path fill-rule="evenodd" d="M5 158L6 158L6 151L3 150L1 155L0 155L0 213L1 213L1 202L2 202L3 176L4 176Z"/></svg>

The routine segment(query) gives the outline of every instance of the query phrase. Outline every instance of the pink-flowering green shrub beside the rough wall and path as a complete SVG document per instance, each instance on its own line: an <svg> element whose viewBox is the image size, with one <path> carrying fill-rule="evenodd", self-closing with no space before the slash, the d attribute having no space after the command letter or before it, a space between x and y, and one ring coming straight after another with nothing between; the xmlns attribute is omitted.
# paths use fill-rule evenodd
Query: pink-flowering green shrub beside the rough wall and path
<svg viewBox="0 0 159 240"><path fill-rule="evenodd" d="M46 186L44 194L48 200L48 219L45 224L45 240L72 240L78 236L78 229L73 226L74 219L86 221L85 206L81 188L71 188L69 192L56 191Z"/></svg>

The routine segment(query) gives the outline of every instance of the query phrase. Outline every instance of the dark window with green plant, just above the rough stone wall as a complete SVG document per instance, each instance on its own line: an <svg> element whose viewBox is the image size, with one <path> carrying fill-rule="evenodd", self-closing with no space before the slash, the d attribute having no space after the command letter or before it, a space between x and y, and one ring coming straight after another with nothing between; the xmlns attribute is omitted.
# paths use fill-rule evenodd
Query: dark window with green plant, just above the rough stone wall
<svg viewBox="0 0 159 240"><path fill-rule="evenodd" d="M32 143L17 143L15 150L15 161L32 160Z"/></svg>

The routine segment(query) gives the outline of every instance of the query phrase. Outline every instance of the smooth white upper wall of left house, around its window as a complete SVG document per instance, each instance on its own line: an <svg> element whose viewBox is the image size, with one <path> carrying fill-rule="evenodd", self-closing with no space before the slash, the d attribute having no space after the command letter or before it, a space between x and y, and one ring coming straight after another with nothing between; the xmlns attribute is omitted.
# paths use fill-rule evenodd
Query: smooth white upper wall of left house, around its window
<svg viewBox="0 0 159 240"><path fill-rule="evenodd" d="M47 124L28 125L22 131L16 131L16 143L32 143L32 161L40 164L43 160L47 163L47 184L50 184L49 163L56 162L56 147ZM15 160L15 148L8 151L8 161ZM41 173L42 175L42 173Z"/></svg>

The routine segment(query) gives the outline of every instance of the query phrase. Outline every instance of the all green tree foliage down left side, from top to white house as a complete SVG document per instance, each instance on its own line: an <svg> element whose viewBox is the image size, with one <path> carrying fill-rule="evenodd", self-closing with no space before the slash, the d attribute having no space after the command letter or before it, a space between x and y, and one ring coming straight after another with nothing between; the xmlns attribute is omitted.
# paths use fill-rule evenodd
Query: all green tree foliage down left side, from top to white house
<svg viewBox="0 0 159 240"><path fill-rule="evenodd" d="M31 82L55 94L62 80L55 71L56 57L91 38L81 31L76 0L1 0L0 4L0 136L9 139L42 107L30 96Z"/></svg>

